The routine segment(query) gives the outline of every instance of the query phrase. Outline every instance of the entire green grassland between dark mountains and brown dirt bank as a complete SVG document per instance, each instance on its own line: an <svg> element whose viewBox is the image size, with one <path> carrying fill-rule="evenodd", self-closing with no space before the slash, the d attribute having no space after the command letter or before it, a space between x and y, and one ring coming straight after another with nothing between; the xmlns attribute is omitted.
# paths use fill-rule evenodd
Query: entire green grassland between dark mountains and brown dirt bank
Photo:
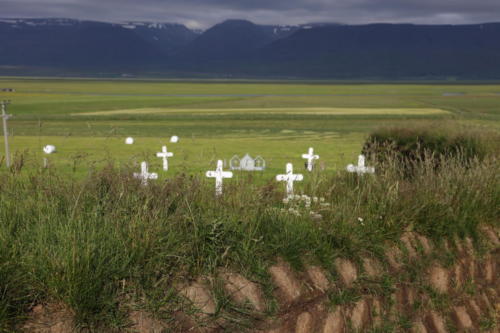
<svg viewBox="0 0 500 333"><path fill-rule="evenodd" d="M267 267L279 257L297 270L318 264L335 279L335 258L385 262L384 250L412 230L442 247L434 259L449 266L457 258L446 239L469 236L481 250L478 226L499 226L500 85L3 78L2 87L16 92L0 93L14 115L14 165L2 161L0 172L0 332L20 331L36 304L63 306L90 332L126 331L133 309L170 322L189 307L176 286L221 268L263 286L272 316ZM479 132L488 149L467 163L425 152L407 161L411 175L391 156L368 161L375 175L347 173L381 126ZM171 135L180 142L168 143ZM127 136L136 144L125 145ZM58 149L49 168L41 167L45 144ZM175 154L167 173L154 156L162 144ZM300 155L310 146L321 158L306 174ZM204 172L246 152L268 169L235 173L216 198ZM148 186L132 177L143 160L160 173ZM310 207L305 197L283 201L274 177L286 162L304 173L296 194L318 197ZM369 292L403 278L371 281ZM252 327L248 309L216 296L228 332Z"/></svg>

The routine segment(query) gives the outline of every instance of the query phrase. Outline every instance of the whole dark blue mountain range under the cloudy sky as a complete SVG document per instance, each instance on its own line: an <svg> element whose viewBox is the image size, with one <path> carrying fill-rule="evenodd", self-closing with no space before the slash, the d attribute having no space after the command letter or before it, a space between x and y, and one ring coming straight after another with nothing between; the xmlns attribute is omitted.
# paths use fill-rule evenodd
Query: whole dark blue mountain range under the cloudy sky
<svg viewBox="0 0 500 333"><path fill-rule="evenodd" d="M0 20L2 66L85 74L500 79L500 23L265 26ZM9 72L9 73L12 73Z"/></svg>

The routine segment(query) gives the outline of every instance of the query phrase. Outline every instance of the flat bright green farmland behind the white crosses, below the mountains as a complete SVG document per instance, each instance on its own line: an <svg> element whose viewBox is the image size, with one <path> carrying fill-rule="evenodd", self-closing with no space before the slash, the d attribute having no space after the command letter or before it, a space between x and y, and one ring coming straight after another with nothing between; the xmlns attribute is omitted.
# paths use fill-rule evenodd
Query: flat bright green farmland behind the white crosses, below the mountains
<svg viewBox="0 0 500 333"><path fill-rule="evenodd" d="M175 154L171 173L249 153L267 160L268 178L286 162L302 167L310 146L333 170L355 161L378 126L439 119L498 128L500 119L500 85L3 78L0 88L15 89L0 93L12 101L13 155L36 166L53 144L50 164L76 173L109 160L157 169L163 144ZM169 144L171 135L180 142ZM125 145L127 136L136 144Z"/></svg>

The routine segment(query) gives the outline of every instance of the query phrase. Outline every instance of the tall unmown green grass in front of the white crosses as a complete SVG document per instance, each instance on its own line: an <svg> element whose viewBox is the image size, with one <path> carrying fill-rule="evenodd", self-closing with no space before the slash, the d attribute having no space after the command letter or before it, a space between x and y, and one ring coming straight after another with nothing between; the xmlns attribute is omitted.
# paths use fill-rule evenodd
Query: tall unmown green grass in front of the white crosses
<svg viewBox="0 0 500 333"><path fill-rule="evenodd" d="M265 267L283 257L332 269L333 260L382 256L404 230L436 241L477 236L500 220L498 156L453 156L446 168L415 160L413 177L397 163L376 175L306 175L299 193L323 197L309 210L283 203L283 184L256 185L252 175L213 183L178 175L141 186L132 170L108 165L85 179L51 169L0 175L0 331L15 330L39 302L64 303L81 327L126 325L126 305L174 311L179 281L229 267L263 283ZM321 215L319 218L318 214ZM167 311L168 312L168 311ZM168 316L168 313L167 313Z"/></svg>

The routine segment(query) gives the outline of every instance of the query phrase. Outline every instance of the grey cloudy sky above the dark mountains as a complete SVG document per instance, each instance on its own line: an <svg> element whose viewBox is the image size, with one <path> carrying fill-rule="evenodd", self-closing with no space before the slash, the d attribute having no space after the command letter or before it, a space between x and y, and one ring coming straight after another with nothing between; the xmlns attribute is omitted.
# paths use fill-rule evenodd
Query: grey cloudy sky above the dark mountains
<svg viewBox="0 0 500 333"><path fill-rule="evenodd" d="M207 28L225 19L262 24L500 22L500 0L0 0L0 17L143 20Z"/></svg>

